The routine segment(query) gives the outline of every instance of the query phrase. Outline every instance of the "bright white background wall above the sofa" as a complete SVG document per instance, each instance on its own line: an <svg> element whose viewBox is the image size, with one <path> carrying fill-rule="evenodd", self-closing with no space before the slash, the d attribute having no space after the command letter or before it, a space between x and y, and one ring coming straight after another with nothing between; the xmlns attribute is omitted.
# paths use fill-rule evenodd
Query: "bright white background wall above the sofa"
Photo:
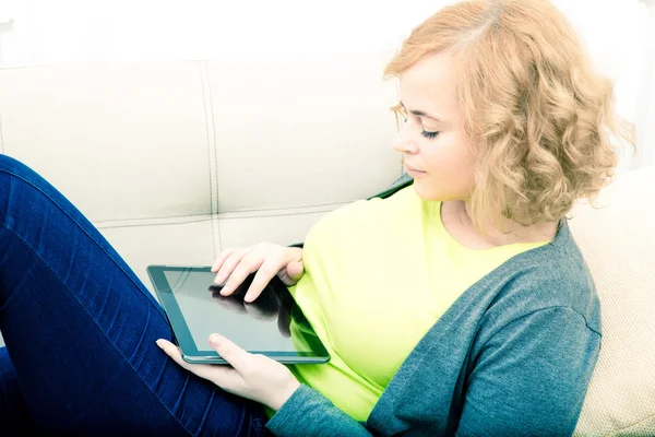
<svg viewBox="0 0 655 437"><path fill-rule="evenodd" d="M294 56L301 61L308 51L374 51L384 60L413 26L451 2L0 0L0 67L226 56ZM553 3L579 29L598 68L616 81L619 113L638 122L641 151L622 165L653 163L655 78L648 66L655 58L655 5L650 12L646 7L653 1ZM13 22L1 24L8 17ZM646 141L652 146L644 152Z"/></svg>

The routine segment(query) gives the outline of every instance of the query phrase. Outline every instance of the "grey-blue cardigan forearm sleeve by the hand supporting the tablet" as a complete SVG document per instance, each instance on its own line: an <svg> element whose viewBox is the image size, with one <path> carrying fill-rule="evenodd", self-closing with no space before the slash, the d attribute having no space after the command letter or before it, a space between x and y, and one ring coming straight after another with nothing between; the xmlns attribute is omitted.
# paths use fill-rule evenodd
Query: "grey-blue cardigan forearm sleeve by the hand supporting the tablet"
<svg viewBox="0 0 655 437"><path fill-rule="evenodd" d="M281 437L370 437L367 428L334 406L323 394L306 385L282 405L266 423Z"/></svg>

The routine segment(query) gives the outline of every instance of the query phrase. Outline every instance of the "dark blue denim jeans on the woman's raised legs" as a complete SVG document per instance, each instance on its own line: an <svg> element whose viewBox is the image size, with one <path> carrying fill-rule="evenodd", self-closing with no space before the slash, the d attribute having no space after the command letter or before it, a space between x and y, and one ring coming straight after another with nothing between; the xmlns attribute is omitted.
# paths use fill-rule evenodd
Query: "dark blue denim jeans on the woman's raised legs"
<svg viewBox="0 0 655 437"><path fill-rule="evenodd" d="M98 199L102 201L102 199ZM155 344L166 317L59 191L0 154L0 435L270 435Z"/></svg>

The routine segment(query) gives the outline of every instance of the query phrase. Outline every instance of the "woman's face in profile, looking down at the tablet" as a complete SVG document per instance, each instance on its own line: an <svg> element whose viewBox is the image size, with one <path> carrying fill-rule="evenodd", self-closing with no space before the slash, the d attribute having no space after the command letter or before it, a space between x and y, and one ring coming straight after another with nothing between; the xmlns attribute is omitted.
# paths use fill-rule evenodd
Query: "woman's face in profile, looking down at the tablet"
<svg viewBox="0 0 655 437"><path fill-rule="evenodd" d="M461 121L452 56L426 56L398 79L407 121L394 149L403 153L416 193L424 200L468 200L475 157Z"/></svg>

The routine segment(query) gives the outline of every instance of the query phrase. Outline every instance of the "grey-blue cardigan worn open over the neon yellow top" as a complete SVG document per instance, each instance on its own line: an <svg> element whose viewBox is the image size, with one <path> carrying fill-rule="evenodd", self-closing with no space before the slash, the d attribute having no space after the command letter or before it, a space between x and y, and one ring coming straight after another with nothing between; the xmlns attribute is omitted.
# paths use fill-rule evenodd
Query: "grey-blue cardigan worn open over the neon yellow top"
<svg viewBox="0 0 655 437"><path fill-rule="evenodd" d="M373 197L412 184L398 179ZM400 291L402 293L402 291ZM269 421L277 436L571 435L600 349L600 305L563 220L443 314L359 423L302 385Z"/></svg>

